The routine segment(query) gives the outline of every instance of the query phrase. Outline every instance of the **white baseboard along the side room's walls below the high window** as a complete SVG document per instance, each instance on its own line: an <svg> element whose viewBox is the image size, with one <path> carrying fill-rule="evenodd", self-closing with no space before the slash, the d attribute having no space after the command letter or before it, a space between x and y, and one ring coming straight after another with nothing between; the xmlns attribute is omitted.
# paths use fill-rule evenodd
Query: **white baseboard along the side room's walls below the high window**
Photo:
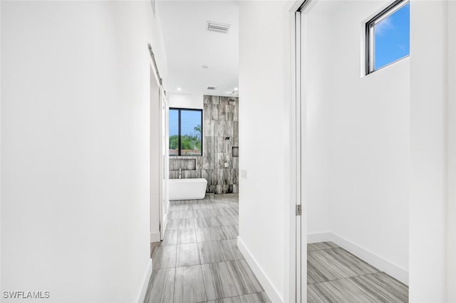
<svg viewBox="0 0 456 303"><path fill-rule="evenodd" d="M318 239L321 239L318 241ZM311 242L312 240L312 242ZM395 265L393 262L390 262L379 255L376 255L374 252L367 250L366 248L357 245L346 238L336 235L335 233L316 233L307 235L307 243L315 242L325 242L332 241L336 243L341 248L348 250L348 252L353 253L356 257L361 258L362 260L368 262L373 267L378 268L382 272L386 272L391 277L403 282L405 285L408 285L408 271L402 267Z"/></svg>

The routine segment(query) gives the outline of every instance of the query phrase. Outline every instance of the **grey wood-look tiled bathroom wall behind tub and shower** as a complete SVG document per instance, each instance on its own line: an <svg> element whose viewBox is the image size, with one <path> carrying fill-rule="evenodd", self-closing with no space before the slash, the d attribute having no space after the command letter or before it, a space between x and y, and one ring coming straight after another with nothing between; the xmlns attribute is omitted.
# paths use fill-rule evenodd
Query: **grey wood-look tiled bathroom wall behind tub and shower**
<svg viewBox="0 0 456 303"><path fill-rule="evenodd" d="M180 168L182 178L207 179L209 193L238 193L239 99L205 95L203 119L203 156L170 157L170 179Z"/></svg>

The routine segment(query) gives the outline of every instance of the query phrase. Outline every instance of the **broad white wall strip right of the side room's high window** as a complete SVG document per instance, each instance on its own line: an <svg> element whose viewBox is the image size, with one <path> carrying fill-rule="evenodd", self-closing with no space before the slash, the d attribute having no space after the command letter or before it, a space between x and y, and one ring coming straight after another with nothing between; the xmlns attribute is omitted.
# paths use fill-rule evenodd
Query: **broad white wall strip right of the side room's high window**
<svg viewBox="0 0 456 303"><path fill-rule="evenodd" d="M445 302L446 10L410 3L410 302Z"/></svg>

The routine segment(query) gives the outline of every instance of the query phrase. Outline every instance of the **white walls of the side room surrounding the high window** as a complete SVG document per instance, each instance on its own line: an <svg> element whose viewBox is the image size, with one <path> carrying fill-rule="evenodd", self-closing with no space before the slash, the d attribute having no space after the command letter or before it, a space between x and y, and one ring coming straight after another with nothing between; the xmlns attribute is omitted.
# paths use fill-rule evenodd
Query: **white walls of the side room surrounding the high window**
<svg viewBox="0 0 456 303"><path fill-rule="evenodd" d="M309 233L330 230L406 282L409 59L361 74L363 22L388 1L318 5L305 17Z"/></svg>

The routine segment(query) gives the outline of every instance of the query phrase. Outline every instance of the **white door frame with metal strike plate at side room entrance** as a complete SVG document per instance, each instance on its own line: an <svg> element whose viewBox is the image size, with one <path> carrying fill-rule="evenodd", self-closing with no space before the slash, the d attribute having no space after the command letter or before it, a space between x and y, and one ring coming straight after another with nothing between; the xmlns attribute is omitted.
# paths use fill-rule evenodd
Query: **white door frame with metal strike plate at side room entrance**
<svg viewBox="0 0 456 303"><path fill-rule="evenodd" d="M307 302L307 202L306 202L306 100L302 95L304 79L301 70L306 65L301 58L303 47L303 11L311 0L296 1L289 9L291 24L291 161L290 196L292 210L289 218L290 241L290 302ZM300 207L301 214L297 214ZM303 274L304 272L304 274Z"/></svg>

